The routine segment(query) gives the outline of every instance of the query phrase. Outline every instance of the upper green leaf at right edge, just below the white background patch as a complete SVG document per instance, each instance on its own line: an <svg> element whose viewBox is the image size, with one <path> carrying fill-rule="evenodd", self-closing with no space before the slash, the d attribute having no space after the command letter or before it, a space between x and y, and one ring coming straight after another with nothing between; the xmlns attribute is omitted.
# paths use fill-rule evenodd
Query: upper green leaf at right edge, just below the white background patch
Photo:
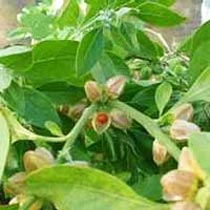
<svg viewBox="0 0 210 210"><path fill-rule="evenodd" d="M200 26L193 35L179 47L179 51L186 52L190 57L193 56L197 48L210 39L210 21ZM207 49L207 48L206 48Z"/></svg>

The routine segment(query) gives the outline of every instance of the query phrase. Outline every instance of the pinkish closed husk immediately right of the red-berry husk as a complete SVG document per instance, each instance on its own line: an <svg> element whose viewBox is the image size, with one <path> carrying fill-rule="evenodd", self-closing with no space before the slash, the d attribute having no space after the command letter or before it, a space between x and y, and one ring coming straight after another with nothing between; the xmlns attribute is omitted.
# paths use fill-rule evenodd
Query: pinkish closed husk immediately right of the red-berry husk
<svg viewBox="0 0 210 210"><path fill-rule="evenodd" d="M131 126L132 120L124 112L114 109L110 115L114 127L125 130Z"/></svg>

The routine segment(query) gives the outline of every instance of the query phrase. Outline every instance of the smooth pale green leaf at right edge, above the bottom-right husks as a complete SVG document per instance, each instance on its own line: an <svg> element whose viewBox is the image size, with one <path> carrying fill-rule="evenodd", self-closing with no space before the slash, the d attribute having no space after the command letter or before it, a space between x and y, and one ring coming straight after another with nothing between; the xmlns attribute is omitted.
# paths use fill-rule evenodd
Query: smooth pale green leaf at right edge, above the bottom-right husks
<svg viewBox="0 0 210 210"><path fill-rule="evenodd" d="M210 174L210 133L193 133L188 140L188 144L201 168Z"/></svg>

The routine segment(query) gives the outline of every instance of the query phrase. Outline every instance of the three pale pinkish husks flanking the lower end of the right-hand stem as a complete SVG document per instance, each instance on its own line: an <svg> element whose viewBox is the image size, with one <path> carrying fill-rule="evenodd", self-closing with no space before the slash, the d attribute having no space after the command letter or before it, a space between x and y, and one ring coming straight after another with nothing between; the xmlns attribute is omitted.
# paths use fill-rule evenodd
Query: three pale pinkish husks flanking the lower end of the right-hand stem
<svg viewBox="0 0 210 210"><path fill-rule="evenodd" d="M200 132L200 128L189 122L193 118L193 107L191 104L184 104L173 111L174 121L170 126L169 135L177 141L187 140L193 132ZM164 145L157 139L153 142L153 160L157 165L165 163L169 154Z"/></svg>

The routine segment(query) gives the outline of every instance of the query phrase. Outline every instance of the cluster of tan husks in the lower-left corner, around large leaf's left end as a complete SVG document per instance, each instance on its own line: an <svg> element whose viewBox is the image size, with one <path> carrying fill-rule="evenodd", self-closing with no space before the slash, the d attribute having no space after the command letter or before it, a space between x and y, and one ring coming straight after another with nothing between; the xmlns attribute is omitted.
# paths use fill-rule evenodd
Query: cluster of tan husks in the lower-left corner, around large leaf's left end
<svg viewBox="0 0 210 210"><path fill-rule="evenodd" d="M23 157L25 172L19 172L10 177L5 185L5 192L14 195L10 204L18 203L22 206L28 199L24 194L24 180L29 172L54 164L54 157L45 148L40 147L35 151L27 151ZM36 200L29 210L41 210L42 201Z"/></svg>

